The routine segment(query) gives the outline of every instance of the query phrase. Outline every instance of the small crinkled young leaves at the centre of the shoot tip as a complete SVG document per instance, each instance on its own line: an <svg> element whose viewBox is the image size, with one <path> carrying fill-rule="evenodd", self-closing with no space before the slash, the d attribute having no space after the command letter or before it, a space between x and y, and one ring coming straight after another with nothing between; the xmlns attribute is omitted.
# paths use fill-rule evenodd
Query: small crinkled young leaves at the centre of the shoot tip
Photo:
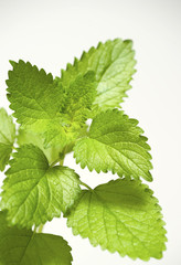
<svg viewBox="0 0 181 265"><path fill-rule="evenodd" d="M96 83L93 72L78 75L64 91L64 105L56 119L45 128L45 148L50 146L71 145L76 138L86 134L86 119L95 98ZM60 147L61 149L61 147Z"/></svg>

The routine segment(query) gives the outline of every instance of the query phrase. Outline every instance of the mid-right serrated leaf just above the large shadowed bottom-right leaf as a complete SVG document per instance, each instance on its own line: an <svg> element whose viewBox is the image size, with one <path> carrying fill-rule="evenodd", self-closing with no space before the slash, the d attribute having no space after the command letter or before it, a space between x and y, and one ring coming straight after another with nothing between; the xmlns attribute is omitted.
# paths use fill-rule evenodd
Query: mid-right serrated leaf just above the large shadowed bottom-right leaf
<svg viewBox="0 0 181 265"><path fill-rule="evenodd" d="M150 147L137 124L117 109L97 115L88 137L79 139L74 147L76 162L98 173L110 170L119 177L142 177L151 181Z"/></svg>

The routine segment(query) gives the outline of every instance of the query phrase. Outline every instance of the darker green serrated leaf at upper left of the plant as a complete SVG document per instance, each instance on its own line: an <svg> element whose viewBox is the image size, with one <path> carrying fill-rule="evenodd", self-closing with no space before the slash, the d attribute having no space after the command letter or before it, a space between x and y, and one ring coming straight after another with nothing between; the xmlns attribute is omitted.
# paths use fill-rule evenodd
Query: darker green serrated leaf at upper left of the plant
<svg viewBox="0 0 181 265"><path fill-rule="evenodd" d="M52 74L22 60L11 64L13 70L9 71L7 91L18 123L30 125L54 118L60 110L62 92L54 84Z"/></svg>

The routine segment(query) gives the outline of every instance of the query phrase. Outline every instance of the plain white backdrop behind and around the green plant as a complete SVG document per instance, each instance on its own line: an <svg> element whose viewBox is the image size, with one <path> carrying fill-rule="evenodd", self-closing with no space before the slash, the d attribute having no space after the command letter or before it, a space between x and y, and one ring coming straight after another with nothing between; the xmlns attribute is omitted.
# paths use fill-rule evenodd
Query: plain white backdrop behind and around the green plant
<svg viewBox="0 0 181 265"><path fill-rule="evenodd" d="M146 263L92 247L88 240L73 236L63 219L47 223L44 231L70 242L73 265L180 265L181 1L0 0L0 106L8 109L9 60L30 61L55 76L83 50L114 38L134 40L137 73L123 107L140 120L152 148L155 181L150 187L167 222L168 250L162 259ZM81 170L72 156L65 163L92 187L113 178Z"/></svg>

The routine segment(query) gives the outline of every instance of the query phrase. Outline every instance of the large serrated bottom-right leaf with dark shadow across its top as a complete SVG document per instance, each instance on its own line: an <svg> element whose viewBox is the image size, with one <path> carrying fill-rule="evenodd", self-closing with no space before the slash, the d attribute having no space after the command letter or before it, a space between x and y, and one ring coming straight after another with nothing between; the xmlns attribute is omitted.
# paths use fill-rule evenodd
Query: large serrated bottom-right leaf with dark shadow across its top
<svg viewBox="0 0 181 265"><path fill-rule="evenodd" d="M140 180L118 179L82 191L67 225L94 246L148 261L161 258L166 250L160 210L152 191Z"/></svg>

